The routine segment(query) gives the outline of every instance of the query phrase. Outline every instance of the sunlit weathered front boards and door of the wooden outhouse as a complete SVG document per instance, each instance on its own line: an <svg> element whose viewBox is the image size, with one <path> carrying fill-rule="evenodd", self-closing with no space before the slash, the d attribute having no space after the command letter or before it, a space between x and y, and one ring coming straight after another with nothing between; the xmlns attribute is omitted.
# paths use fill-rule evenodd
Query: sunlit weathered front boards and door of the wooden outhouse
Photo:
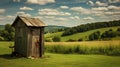
<svg viewBox="0 0 120 67"><path fill-rule="evenodd" d="M28 56L39 57L40 28L30 27L28 32Z"/></svg>

